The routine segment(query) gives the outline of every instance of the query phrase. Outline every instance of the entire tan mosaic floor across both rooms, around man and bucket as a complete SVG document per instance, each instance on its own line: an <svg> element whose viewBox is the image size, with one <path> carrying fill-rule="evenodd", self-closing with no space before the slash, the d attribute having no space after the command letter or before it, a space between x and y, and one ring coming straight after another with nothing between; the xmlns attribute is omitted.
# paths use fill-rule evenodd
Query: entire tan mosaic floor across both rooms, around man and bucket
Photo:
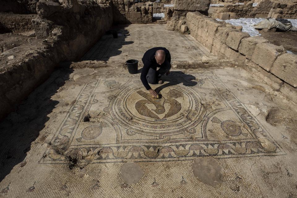
<svg viewBox="0 0 297 198"><path fill-rule="evenodd" d="M186 52L173 63L213 55L129 27L147 40L105 36L2 120L0 196L296 197L296 104L239 67L172 68L153 99L123 60L159 44Z"/></svg>

